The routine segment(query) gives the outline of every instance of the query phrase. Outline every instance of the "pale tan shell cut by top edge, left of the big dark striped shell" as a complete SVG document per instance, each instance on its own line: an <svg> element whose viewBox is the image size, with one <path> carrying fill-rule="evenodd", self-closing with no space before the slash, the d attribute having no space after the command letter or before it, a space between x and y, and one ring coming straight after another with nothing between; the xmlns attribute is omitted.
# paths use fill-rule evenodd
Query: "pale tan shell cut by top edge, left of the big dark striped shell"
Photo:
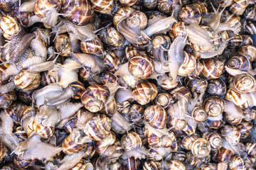
<svg viewBox="0 0 256 170"><path fill-rule="evenodd" d="M46 13L56 8L57 11L60 10L62 1L60 0L37 0L34 5L34 13L40 18L46 17Z"/></svg>

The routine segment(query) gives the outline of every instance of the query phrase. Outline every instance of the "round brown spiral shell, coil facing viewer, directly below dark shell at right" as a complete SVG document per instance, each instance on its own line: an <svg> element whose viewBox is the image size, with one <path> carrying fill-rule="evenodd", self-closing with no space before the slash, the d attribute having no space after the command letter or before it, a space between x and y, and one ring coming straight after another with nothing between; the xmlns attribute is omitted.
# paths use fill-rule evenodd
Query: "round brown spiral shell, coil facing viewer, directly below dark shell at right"
<svg viewBox="0 0 256 170"><path fill-rule="evenodd" d="M215 117L223 113L224 111L224 101L218 96L210 96L203 101L203 108L209 116Z"/></svg>

